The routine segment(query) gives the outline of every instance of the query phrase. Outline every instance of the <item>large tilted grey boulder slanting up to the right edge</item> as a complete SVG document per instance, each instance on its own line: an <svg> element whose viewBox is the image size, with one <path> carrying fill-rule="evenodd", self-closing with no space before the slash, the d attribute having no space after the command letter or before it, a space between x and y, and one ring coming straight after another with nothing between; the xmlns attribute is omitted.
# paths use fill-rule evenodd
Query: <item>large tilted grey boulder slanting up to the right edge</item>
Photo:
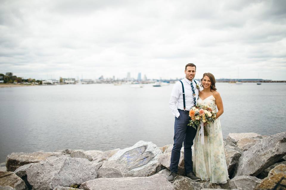
<svg viewBox="0 0 286 190"><path fill-rule="evenodd" d="M257 176L286 154L286 132L263 138L243 152L235 176Z"/></svg>

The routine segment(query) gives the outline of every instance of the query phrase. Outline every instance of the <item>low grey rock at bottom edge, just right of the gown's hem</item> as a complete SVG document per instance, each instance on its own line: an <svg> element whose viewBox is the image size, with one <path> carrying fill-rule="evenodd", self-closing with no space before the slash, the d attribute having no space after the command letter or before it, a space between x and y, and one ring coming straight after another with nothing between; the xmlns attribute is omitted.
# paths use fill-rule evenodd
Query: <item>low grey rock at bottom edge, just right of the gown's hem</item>
<svg viewBox="0 0 286 190"><path fill-rule="evenodd" d="M229 186L231 189L253 190L260 181L254 176L236 176L230 180Z"/></svg>

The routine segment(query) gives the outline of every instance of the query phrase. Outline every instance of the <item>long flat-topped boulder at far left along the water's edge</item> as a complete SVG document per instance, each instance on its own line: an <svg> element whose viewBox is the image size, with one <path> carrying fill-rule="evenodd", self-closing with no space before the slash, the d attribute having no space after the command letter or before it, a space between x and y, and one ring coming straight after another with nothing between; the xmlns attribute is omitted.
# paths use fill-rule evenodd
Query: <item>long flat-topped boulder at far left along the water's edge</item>
<svg viewBox="0 0 286 190"><path fill-rule="evenodd" d="M11 153L6 158L7 171L15 171L18 167L30 163L38 163L56 158L70 157L67 154L59 152L33 152L33 153Z"/></svg>

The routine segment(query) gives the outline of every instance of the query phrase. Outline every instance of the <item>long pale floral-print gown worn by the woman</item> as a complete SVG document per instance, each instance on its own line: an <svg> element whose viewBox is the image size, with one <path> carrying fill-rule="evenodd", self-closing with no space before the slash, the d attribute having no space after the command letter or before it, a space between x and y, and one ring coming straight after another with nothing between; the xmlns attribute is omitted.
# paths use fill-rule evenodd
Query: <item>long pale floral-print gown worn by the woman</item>
<svg viewBox="0 0 286 190"><path fill-rule="evenodd" d="M214 96L209 96L204 100L199 97L198 105L206 105L216 112ZM215 123L208 124L206 129L209 136L204 137L204 145L201 144L199 130L197 130L195 136L193 170L195 175L203 181L226 183L229 179L229 174L226 166L219 118L215 120Z"/></svg>

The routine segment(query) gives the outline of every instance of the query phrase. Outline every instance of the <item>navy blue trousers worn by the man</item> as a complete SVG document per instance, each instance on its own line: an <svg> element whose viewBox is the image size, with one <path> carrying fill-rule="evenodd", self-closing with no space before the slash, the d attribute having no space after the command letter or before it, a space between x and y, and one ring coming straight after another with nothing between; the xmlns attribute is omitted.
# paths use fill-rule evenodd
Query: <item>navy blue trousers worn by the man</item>
<svg viewBox="0 0 286 190"><path fill-rule="evenodd" d="M193 171L192 145L197 131L193 127L187 126L190 120L189 111L185 112L184 110L179 110L179 113L179 118L175 117L174 145L172 149L170 170L171 172L178 172L181 148L184 142L185 170L186 173L189 173Z"/></svg>

